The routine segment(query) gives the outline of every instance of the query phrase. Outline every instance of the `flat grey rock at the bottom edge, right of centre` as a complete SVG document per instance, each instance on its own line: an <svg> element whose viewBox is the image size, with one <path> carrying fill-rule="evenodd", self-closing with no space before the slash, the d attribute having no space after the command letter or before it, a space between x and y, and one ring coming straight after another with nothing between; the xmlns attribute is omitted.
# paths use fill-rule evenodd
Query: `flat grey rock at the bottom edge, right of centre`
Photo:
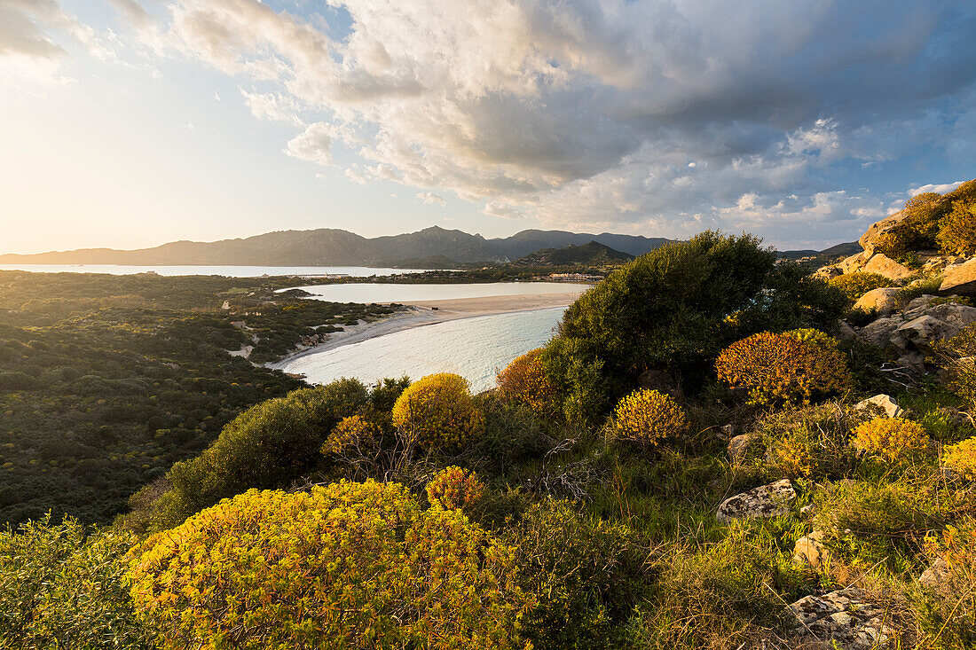
<svg viewBox="0 0 976 650"><path fill-rule="evenodd" d="M790 611L797 630L846 650L883 648L896 635L885 623L890 613L856 587L800 598Z"/></svg>

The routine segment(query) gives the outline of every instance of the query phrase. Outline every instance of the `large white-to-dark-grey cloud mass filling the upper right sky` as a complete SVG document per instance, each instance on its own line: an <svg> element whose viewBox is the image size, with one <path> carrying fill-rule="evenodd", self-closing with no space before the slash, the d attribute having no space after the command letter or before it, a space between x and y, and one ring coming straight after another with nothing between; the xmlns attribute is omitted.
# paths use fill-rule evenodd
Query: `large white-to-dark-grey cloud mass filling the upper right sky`
<svg viewBox="0 0 976 650"><path fill-rule="evenodd" d="M331 125L290 155L327 164L342 142L351 180L447 188L486 215L677 235L742 222L754 194L770 232L863 221L874 198L830 193L845 165L973 132L976 13L958 0L333 6L347 29L305 4L174 0L166 38L273 87L245 94L256 115Z"/></svg>

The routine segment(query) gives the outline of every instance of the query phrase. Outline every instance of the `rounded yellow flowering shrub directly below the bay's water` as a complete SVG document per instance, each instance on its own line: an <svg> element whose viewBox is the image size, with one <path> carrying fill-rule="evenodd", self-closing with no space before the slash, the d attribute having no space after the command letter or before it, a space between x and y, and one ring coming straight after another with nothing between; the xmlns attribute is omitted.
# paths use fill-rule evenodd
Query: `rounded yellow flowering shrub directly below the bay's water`
<svg viewBox="0 0 976 650"><path fill-rule="evenodd" d="M468 380L452 373L427 375L408 386L390 415L394 426L426 449L462 447L484 428Z"/></svg>

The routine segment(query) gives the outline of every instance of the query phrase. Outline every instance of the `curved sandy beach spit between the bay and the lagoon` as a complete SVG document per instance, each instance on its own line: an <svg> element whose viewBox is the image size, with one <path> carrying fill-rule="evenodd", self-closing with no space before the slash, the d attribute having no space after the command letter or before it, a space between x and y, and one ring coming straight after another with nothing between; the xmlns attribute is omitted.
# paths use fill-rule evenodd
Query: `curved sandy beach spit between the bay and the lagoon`
<svg viewBox="0 0 976 650"><path fill-rule="evenodd" d="M451 320L491 316L500 313L535 311L572 305L583 292L564 292L560 294L530 294L525 296L490 296L486 298L463 298L446 301L404 301L405 312L395 313L387 318L347 327L343 332L334 332L329 339L319 345L293 352L277 361L265 363L266 368L287 372L293 361L309 354L325 352L344 345L352 345L394 334L415 327L446 323ZM387 304L389 305L389 304Z"/></svg>

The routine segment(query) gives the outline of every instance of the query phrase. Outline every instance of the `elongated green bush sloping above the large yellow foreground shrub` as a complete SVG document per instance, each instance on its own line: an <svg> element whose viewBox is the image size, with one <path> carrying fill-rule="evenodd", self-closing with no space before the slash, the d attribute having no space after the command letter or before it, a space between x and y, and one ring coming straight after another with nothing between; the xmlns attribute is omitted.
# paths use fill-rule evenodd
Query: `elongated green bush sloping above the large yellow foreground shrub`
<svg viewBox="0 0 976 650"><path fill-rule="evenodd" d="M166 476L169 489L138 518L150 531L163 530L248 489L287 486L320 462L333 428L368 403L365 386L343 379L257 404L199 457L174 465Z"/></svg>

